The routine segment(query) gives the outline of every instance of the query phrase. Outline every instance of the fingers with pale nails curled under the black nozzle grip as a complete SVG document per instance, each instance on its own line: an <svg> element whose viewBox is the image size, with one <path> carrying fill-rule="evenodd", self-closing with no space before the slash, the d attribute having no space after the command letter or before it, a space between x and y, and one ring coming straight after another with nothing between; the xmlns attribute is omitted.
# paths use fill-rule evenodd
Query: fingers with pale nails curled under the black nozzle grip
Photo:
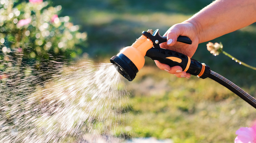
<svg viewBox="0 0 256 143"><path fill-rule="evenodd" d="M191 74L186 73L185 71L182 71L182 68L180 66L174 66L170 67L166 64L162 64L159 61L155 60L156 65L158 66L159 69L165 70L171 74L174 74L177 77L186 77L190 78Z"/></svg>

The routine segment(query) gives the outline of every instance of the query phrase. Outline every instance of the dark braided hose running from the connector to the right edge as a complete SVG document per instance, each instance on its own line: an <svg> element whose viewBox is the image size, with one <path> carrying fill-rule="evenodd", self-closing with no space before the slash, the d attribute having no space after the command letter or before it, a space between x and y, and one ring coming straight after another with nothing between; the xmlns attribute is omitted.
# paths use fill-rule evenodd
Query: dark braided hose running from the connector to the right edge
<svg viewBox="0 0 256 143"><path fill-rule="evenodd" d="M250 94L245 92L243 89L223 77L222 75L211 71L209 78L215 80L219 84L223 85L224 87L228 88L232 92L234 92L236 95L238 95L240 98L242 98L244 101L252 105L254 108L256 108L256 100L254 97L252 97Z"/></svg>

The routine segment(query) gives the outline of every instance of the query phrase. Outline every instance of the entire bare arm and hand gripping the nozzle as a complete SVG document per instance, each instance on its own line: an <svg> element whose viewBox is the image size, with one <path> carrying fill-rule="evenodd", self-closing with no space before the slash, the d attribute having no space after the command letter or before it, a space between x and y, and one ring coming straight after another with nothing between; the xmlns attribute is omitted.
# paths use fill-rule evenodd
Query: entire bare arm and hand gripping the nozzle
<svg viewBox="0 0 256 143"><path fill-rule="evenodd" d="M192 57L199 43L213 40L224 34L256 22L256 0L216 0L188 20L170 27L164 36L167 42L161 48L170 49ZM210 34L209 34L210 33ZM187 36L191 45L177 42L178 36ZM156 65L177 77L189 78L180 66L170 67L155 61Z"/></svg>

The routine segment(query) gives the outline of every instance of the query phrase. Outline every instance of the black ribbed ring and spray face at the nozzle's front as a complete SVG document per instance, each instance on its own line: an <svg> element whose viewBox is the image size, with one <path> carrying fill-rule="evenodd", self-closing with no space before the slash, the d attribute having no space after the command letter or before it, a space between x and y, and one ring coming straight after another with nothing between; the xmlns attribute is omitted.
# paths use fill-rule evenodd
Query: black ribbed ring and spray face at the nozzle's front
<svg viewBox="0 0 256 143"><path fill-rule="evenodd" d="M110 62L114 64L117 71L129 81L132 81L139 72L134 63L122 53L113 56Z"/></svg>

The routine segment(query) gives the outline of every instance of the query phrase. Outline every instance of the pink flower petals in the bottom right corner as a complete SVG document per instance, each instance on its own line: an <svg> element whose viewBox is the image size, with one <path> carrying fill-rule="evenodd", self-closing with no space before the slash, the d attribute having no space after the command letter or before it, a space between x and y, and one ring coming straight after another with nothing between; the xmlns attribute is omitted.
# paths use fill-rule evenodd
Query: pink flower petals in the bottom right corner
<svg viewBox="0 0 256 143"><path fill-rule="evenodd" d="M252 127L242 127L236 131L235 143L256 143L256 124Z"/></svg>

